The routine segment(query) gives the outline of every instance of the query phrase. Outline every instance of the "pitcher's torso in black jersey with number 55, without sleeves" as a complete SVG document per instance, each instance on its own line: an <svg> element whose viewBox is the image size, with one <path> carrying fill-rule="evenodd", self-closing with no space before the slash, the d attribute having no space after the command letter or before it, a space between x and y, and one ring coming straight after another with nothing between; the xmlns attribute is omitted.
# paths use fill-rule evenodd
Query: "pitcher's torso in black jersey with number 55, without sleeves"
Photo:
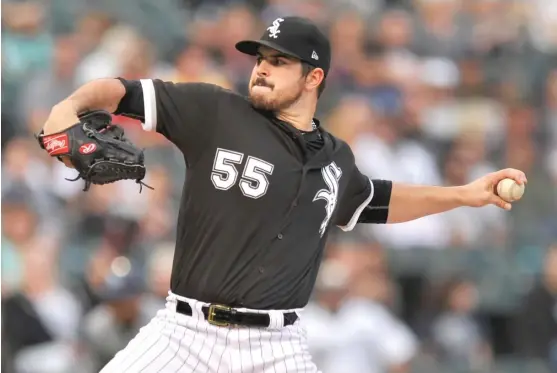
<svg viewBox="0 0 557 373"><path fill-rule="evenodd" d="M301 135L248 105L218 120L212 144L186 173L173 288L248 305L250 297L300 296L313 285L352 155L324 133L323 148L304 159ZM191 294L194 282L204 294Z"/></svg>

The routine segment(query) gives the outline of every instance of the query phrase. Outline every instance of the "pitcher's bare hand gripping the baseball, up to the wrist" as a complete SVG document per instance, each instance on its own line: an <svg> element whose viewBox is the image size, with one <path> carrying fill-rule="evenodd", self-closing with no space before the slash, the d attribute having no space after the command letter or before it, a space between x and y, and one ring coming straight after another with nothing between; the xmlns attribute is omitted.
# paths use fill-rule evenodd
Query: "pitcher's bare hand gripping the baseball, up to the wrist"
<svg viewBox="0 0 557 373"><path fill-rule="evenodd" d="M520 185L527 183L524 172L514 168L489 173L462 187L465 205L471 207L495 205L510 210L511 204L497 195L497 184L506 178L513 179Z"/></svg>

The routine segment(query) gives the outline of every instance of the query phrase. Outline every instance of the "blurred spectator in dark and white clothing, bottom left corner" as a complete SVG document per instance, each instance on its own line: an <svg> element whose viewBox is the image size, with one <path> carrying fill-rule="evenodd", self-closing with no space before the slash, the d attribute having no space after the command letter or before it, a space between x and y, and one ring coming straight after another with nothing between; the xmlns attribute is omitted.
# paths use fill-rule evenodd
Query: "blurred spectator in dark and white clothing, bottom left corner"
<svg viewBox="0 0 557 373"><path fill-rule="evenodd" d="M19 291L3 299L5 343L18 372L73 371L81 308L57 278L56 242L38 237L21 253Z"/></svg>

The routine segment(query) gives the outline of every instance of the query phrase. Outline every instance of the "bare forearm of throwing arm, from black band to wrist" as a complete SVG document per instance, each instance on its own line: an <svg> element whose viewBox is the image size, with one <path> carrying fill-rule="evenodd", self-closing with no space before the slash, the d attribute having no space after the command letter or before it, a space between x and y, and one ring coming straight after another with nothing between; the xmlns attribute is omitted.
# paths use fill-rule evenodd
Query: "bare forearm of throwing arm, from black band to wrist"
<svg viewBox="0 0 557 373"><path fill-rule="evenodd" d="M393 183L387 223L402 223L464 206L461 187Z"/></svg>

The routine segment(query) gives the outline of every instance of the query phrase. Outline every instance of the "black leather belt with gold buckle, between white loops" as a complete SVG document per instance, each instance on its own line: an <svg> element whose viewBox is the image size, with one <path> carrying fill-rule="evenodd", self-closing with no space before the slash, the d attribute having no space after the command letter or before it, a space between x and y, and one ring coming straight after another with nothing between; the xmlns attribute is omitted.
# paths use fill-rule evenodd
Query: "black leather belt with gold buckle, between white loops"
<svg viewBox="0 0 557 373"><path fill-rule="evenodd" d="M192 315L192 309L189 303L177 300L176 312L186 316ZM205 320L209 324L216 326L255 326L260 328L268 328L271 323L271 317L267 313L241 312L234 308L222 306L220 304L211 304L201 308ZM298 320L296 312L285 312L282 314L284 318L283 326L292 325Z"/></svg>

